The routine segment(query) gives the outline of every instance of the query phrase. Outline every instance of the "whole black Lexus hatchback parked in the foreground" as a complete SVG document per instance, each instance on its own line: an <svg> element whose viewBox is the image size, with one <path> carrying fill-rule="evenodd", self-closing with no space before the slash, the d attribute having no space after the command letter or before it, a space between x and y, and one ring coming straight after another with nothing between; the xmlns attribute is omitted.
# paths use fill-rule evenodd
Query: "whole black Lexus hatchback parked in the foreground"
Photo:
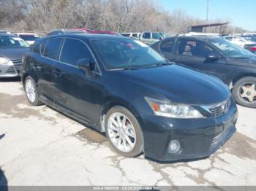
<svg viewBox="0 0 256 191"><path fill-rule="evenodd" d="M21 73L31 104L48 104L105 132L127 157L205 157L236 131L236 104L226 85L170 64L134 39L48 36L24 55Z"/></svg>

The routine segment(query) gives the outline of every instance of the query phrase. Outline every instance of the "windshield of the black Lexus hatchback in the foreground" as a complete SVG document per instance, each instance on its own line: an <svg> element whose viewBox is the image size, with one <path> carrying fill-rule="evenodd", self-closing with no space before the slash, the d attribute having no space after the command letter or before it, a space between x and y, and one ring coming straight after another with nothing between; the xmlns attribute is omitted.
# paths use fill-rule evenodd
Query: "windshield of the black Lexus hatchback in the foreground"
<svg viewBox="0 0 256 191"><path fill-rule="evenodd" d="M133 39L92 41L107 69L141 69L168 64L161 55L143 42Z"/></svg>

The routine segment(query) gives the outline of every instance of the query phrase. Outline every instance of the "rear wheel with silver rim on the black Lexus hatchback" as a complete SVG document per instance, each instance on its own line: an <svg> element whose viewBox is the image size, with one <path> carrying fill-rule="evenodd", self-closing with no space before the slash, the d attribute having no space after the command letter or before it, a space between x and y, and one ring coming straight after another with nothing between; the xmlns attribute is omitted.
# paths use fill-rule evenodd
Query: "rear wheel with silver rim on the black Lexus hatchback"
<svg viewBox="0 0 256 191"><path fill-rule="evenodd" d="M42 105L42 102L39 101L39 93L37 91L36 82L34 82L34 79L30 76L26 77L24 81L24 89L26 93L26 98L28 99L30 104L34 106Z"/></svg>

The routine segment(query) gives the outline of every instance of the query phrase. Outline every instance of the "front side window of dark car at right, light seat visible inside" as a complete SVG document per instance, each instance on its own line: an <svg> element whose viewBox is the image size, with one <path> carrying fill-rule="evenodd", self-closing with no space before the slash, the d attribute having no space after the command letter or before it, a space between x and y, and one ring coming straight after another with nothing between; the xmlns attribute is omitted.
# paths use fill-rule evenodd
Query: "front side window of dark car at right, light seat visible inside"
<svg viewBox="0 0 256 191"><path fill-rule="evenodd" d="M179 40L177 47L178 55L206 57L206 55L214 52L211 47L198 41Z"/></svg>

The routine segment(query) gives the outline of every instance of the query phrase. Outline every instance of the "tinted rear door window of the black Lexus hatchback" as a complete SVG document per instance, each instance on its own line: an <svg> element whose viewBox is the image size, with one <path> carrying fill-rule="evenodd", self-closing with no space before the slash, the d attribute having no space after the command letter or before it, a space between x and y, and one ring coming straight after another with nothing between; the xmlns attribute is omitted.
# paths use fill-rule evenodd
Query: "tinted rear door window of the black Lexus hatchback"
<svg viewBox="0 0 256 191"><path fill-rule="evenodd" d="M48 39L48 42L45 46L45 50L43 55L47 58L51 58L54 60L59 60L59 47L61 46L62 39Z"/></svg>

